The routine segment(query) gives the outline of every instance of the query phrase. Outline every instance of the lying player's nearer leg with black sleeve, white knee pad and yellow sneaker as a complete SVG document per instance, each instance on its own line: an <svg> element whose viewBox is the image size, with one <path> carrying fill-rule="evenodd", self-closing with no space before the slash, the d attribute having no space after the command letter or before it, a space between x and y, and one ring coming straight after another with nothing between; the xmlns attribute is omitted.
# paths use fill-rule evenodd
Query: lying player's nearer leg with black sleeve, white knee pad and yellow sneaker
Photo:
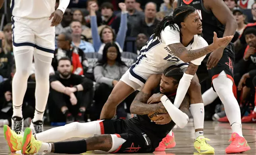
<svg viewBox="0 0 256 155"><path fill-rule="evenodd" d="M30 128L25 130L21 153L34 154L37 152L80 154L91 150L114 152L126 140L115 134L103 134L89 137L85 140L43 143L35 140Z"/></svg>

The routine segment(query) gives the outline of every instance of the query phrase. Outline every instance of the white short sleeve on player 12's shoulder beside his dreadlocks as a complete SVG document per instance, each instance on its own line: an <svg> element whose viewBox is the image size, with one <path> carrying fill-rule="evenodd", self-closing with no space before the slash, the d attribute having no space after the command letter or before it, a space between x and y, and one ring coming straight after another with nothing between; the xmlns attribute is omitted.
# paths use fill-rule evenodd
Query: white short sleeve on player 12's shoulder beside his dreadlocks
<svg viewBox="0 0 256 155"><path fill-rule="evenodd" d="M180 32L178 32L178 30L174 30L170 26L165 27L165 30L161 32L161 36L161 38L165 41L165 45L180 43Z"/></svg>

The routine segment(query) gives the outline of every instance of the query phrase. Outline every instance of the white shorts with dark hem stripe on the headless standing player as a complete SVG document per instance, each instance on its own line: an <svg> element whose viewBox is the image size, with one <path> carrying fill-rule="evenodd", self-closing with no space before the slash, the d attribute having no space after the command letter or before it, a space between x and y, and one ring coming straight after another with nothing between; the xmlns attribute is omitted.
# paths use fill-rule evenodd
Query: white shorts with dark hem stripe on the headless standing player
<svg viewBox="0 0 256 155"><path fill-rule="evenodd" d="M54 57L55 27L51 27L48 17L30 19L12 17L13 52L36 48L37 53Z"/></svg>

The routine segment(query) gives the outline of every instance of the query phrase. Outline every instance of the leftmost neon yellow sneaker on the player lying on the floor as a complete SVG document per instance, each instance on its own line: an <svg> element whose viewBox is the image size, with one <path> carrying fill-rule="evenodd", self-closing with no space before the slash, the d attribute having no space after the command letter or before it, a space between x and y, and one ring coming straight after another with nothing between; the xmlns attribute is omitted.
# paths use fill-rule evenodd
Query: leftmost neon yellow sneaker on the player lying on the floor
<svg viewBox="0 0 256 155"><path fill-rule="evenodd" d="M7 141L7 144L9 146L9 149L11 152L16 152L21 150L21 145L22 145L22 135L16 134L16 132L8 125L4 125L4 138Z"/></svg>

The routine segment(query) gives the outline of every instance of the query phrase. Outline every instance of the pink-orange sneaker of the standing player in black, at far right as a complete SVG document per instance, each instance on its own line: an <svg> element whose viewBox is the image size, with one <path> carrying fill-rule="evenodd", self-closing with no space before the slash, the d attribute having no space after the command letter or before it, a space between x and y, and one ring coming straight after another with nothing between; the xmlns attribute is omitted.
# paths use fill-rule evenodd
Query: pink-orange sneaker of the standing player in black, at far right
<svg viewBox="0 0 256 155"><path fill-rule="evenodd" d="M226 153L242 153L251 149L247 141L236 132L231 134L229 141L231 144L226 148Z"/></svg>

